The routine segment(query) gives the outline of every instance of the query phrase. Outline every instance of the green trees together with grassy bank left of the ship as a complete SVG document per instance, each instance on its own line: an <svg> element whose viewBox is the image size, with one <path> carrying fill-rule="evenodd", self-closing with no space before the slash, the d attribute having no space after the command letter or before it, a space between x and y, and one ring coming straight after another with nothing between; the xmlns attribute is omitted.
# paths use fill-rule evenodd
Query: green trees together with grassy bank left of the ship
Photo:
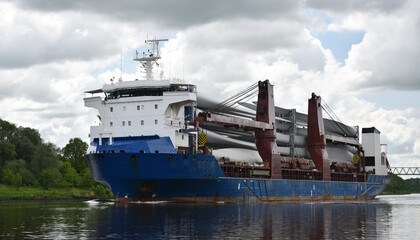
<svg viewBox="0 0 420 240"><path fill-rule="evenodd" d="M60 149L38 130L0 119L0 199L113 197L92 180L87 147L73 138Z"/></svg>

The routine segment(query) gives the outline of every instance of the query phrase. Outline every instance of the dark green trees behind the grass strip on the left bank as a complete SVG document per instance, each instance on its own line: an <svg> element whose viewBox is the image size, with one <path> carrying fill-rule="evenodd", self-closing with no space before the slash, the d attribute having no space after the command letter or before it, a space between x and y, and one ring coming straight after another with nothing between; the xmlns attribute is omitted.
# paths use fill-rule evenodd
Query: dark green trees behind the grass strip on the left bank
<svg viewBox="0 0 420 240"><path fill-rule="evenodd" d="M39 131L0 119L0 183L43 188L107 191L92 180L85 160L87 143L70 139L64 148L42 140Z"/></svg>

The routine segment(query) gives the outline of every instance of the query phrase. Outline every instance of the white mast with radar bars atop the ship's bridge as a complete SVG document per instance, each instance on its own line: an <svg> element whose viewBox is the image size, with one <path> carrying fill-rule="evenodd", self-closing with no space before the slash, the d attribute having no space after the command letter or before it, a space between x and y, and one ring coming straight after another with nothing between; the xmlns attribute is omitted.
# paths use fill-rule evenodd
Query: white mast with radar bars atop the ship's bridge
<svg viewBox="0 0 420 240"><path fill-rule="evenodd" d="M143 52L142 56L136 51L134 61L139 61L143 68L145 68L146 80L154 80L153 77L153 66L157 64L157 60L160 59L159 43L168 41L168 39L152 39L144 41L150 46L147 52ZM158 65L159 66L159 65Z"/></svg>

